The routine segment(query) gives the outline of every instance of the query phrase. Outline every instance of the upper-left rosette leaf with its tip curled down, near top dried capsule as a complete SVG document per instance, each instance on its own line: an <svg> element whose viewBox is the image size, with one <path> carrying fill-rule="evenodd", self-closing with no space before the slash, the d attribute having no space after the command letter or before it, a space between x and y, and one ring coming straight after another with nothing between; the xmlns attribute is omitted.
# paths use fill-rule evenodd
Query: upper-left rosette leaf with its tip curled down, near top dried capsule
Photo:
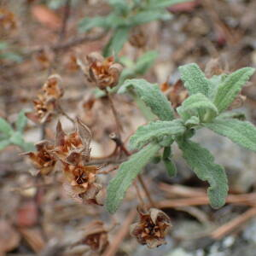
<svg viewBox="0 0 256 256"><path fill-rule="evenodd" d="M168 102L157 84L150 84L144 79L129 79L120 86L118 92L124 93L129 89L133 89L161 120L174 119L171 102Z"/></svg>

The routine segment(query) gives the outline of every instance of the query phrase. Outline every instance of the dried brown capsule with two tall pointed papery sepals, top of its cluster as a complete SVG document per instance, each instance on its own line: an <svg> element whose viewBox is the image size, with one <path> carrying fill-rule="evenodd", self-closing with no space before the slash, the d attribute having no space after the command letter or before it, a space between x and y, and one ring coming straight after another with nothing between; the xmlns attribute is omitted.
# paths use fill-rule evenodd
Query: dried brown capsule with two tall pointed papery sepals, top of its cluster
<svg viewBox="0 0 256 256"><path fill-rule="evenodd" d="M79 165L90 160L90 129L80 120L76 120L76 129L66 134L61 122L56 127L55 155L63 162Z"/></svg>

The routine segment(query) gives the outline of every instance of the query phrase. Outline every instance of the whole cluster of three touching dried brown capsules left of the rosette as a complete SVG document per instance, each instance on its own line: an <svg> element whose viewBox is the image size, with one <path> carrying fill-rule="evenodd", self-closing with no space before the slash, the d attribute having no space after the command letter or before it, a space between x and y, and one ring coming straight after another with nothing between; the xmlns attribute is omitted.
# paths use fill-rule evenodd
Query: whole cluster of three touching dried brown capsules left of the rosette
<svg viewBox="0 0 256 256"><path fill-rule="evenodd" d="M53 94L53 92L45 92ZM38 143L38 152L28 152L32 164L41 174L48 174L60 160L65 177L64 189L79 202L101 205L102 186L96 183L98 166L88 166L90 160L89 128L80 119L76 120L76 130L66 134L59 122L56 128L55 146L49 142Z"/></svg>

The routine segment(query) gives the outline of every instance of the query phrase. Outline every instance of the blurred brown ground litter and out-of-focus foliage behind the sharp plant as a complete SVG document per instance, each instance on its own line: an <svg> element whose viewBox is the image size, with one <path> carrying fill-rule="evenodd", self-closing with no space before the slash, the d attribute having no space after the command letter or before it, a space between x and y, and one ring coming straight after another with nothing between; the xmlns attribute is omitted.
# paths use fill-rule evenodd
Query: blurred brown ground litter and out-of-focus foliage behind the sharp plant
<svg viewBox="0 0 256 256"><path fill-rule="evenodd" d="M177 67L181 65L195 62L208 75L256 67L255 0L172 1L169 5L171 1L160 1L163 8L148 10L150 2L154 1L0 0L0 117L11 125L12 132L18 129L19 116L32 111L33 100L49 74L58 73L64 90L61 107L69 117L79 116L90 127L92 156L111 154L114 143L109 134L115 123L109 102L88 84L78 65L78 60L84 63L86 55L94 51L115 55L124 67L121 79L144 78L160 84L176 106L183 101L182 85L176 94L172 90L178 84ZM138 19L144 9L148 13ZM234 105L253 124L255 84L256 75ZM131 98L115 95L113 102L127 141L146 119ZM230 197L218 210L209 207L207 184L189 170L177 148L173 152L177 177L168 177L161 163L148 164L145 182L154 201L160 201L172 219L167 244L150 250L129 236L129 226L137 218L134 188L111 216L104 207L81 205L66 195L60 166L50 176L35 176L30 161L20 155L43 138L54 141L58 119L65 131L73 131L73 123L60 115L43 128L28 120L19 131L21 142L5 143L0 137L1 256L256 255L254 153L211 131L203 130L195 137L210 149L229 177ZM113 175L100 175L99 179L107 186ZM105 254L91 251L83 242L73 244L93 220L102 220L110 230Z"/></svg>

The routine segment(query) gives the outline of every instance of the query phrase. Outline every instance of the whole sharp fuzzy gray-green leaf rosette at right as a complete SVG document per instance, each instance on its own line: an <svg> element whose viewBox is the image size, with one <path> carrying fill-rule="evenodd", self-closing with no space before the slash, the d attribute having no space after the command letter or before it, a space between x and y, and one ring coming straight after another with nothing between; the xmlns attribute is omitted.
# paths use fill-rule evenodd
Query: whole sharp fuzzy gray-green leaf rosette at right
<svg viewBox="0 0 256 256"><path fill-rule="evenodd" d="M128 91L135 99L139 97L160 120L139 127L131 137L131 149L139 151L119 166L117 176L108 185L109 212L116 211L125 195L125 190L131 185L131 177L134 179L160 148L163 148L162 160L166 165L166 171L170 176L176 174L176 166L172 160L174 142L183 151L184 159L196 176L209 183L207 194L211 206L222 207L228 193L224 168L214 163L214 158L207 148L202 148L191 141L195 131L200 130L201 127L207 127L219 135L229 137L244 148L256 151L255 126L242 121L244 115L239 112L223 112L230 107L241 87L250 79L254 69L245 67L235 73L222 74L210 79L207 79L195 64L185 65L179 70L183 84L189 91L189 97L181 107L177 108L179 114L177 119L171 102L167 101L156 84L150 84L143 79L130 79L119 88L120 93ZM144 147L147 144L148 146Z"/></svg>

